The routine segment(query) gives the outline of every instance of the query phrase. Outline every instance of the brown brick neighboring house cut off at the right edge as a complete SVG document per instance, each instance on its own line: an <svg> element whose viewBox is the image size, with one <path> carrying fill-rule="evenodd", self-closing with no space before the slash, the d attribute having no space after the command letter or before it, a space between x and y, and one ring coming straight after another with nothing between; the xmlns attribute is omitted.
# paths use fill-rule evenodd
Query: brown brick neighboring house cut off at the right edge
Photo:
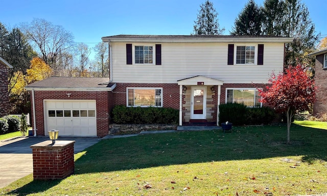
<svg viewBox="0 0 327 196"><path fill-rule="evenodd" d="M314 116L321 118L327 114L327 48L309 54L316 57L315 64L315 86L316 102L313 106Z"/></svg>

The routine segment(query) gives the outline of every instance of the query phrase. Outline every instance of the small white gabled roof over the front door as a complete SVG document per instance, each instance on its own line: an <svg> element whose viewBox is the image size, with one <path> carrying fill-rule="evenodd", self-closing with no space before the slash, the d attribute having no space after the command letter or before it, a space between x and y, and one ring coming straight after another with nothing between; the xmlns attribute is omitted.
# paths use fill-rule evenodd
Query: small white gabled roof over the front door
<svg viewBox="0 0 327 196"><path fill-rule="evenodd" d="M224 81L197 75L177 81L178 85L223 85Z"/></svg>

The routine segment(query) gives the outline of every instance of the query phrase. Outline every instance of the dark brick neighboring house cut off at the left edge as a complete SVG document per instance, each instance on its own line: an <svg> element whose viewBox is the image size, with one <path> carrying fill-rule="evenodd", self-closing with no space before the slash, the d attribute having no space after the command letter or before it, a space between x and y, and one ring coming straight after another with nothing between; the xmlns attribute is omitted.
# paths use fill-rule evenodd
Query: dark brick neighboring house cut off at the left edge
<svg viewBox="0 0 327 196"><path fill-rule="evenodd" d="M9 114L8 69L12 66L0 57L0 117Z"/></svg>

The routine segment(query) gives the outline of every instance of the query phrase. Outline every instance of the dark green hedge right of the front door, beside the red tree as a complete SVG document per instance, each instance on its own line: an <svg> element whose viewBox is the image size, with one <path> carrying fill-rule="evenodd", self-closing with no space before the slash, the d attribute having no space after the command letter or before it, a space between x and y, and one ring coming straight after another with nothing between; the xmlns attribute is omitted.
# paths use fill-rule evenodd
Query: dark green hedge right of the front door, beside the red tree
<svg viewBox="0 0 327 196"><path fill-rule="evenodd" d="M269 107L247 107L243 103L219 105L219 124L228 121L233 125L261 125L270 124L275 118L275 111Z"/></svg>

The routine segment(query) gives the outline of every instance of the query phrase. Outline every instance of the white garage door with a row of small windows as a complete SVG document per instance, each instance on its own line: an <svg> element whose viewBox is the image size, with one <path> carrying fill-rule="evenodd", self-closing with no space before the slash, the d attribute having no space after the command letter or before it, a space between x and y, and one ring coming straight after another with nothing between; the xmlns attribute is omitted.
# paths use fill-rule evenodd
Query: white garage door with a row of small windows
<svg viewBox="0 0 327 196"><path fill-rule="evenodd" d="M48 100L44 105L45 135L55 129L59 136L97 136L95 100Z"/></svg>

